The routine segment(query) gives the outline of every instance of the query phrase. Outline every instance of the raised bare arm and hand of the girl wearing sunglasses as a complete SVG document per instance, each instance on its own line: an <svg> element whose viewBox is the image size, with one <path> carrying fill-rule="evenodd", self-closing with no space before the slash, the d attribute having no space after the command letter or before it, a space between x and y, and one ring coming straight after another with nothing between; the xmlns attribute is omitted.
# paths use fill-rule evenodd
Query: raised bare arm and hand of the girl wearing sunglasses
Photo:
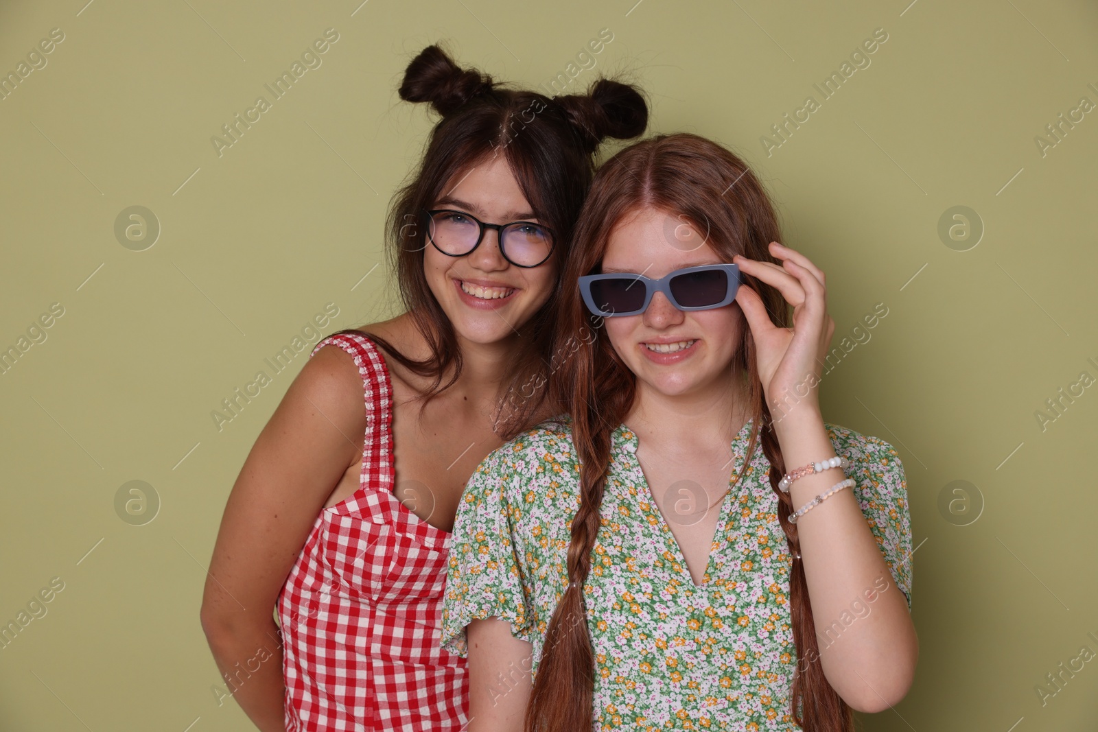
<svg viewBox="0 0 1098 732"><path fill-rule="evenodd" d="M820 367L827 358L834 320L827 314L826 278L803 254L777 241L770 254L782 264L736 255L740 269L778 290L793 306L793 328L775 326L759 294L740 288L736 302L755 341L757 365L786 469L834 455L819 408ZM800 390L808 385L804 395ZM793 407L785 414L791 395ZM806 475L789 486L799 509L842 478L838 470ZM904 594L893 582L853 491L839 491L797 519L797 537L817 635L850 608L873 603L829 645L820 644L824 675L853 709L878 712L898 703L911 688L919 639ZM854 604L859 605L855 606ZM839 627L845 626L843 621Z"/></svg>

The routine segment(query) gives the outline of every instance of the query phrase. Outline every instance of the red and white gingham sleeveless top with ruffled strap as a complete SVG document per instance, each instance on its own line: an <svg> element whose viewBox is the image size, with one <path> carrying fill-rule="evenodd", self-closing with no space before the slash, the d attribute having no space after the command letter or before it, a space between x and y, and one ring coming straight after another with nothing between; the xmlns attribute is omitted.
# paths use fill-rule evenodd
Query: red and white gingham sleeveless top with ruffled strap
<svg viewBox="0 0 1098 732"><path fill-rule="evenodd" d="M392 387L361 335L329 336L366 391L359 489L321 511L279 594L285 729L460 730L464 658L440 647L450 533L393 496Z"/></svg>

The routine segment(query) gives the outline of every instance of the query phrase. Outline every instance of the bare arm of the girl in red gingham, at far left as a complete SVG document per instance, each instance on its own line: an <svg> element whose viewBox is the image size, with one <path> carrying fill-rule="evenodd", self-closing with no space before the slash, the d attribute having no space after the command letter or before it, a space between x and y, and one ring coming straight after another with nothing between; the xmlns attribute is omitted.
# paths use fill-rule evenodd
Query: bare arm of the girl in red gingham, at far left
<svg viewBox="0 0 1098 732"><path fill-rule="evenodd" d="M358 368L325 346L259 433L225 505L202 629L233 698L264 732L285 729L278 594L328 495L358 463L365 431Z"/></svg>

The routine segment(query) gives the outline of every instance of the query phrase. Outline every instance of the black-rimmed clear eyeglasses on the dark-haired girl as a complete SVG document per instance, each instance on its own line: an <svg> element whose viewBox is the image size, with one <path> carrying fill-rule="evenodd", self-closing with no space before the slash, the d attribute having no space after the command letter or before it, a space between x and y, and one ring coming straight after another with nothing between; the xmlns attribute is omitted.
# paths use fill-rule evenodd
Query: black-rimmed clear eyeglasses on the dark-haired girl
<svg viewBox="0 0 1098 732"><path fill-rule="evenodd" d="M500 254L515 267L537 267L552 254L552 230L541 224L516 221L509 224L485 224L463 211L440 209L425 211L427 238L448 257L464 257L480 246L484 229L495 229L500 237Z"/></svg>

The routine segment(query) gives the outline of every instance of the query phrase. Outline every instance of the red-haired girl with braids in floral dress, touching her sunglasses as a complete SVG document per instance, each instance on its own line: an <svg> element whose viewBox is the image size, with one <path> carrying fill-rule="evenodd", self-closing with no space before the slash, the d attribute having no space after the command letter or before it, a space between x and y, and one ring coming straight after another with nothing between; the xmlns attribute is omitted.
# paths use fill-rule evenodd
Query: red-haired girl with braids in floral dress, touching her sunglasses
<svg viewBox="0 0 1098 732"><path fill-rule="evenodd" d="M458 511L442 640L471 731L847 732L907 692L904 470L824 421L825 278L780 238L702 137L596 174L562 274L567 414L489 455Z"/></svg>

